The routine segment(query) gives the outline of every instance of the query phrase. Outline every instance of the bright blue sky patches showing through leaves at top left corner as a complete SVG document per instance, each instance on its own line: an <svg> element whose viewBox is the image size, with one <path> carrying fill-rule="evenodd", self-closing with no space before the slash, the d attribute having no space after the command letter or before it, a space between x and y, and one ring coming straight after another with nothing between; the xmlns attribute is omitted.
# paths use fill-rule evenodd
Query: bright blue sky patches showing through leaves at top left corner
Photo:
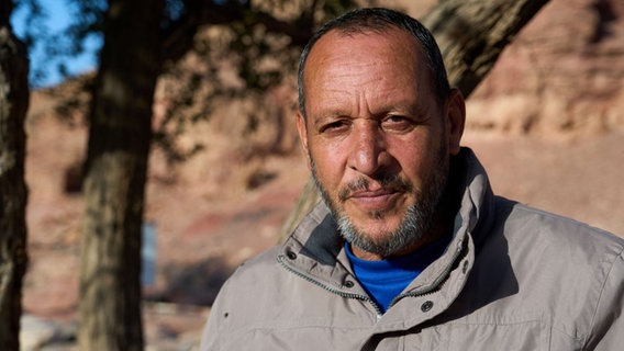
<svg viewBox="0 0 624 351"><path fill-rule="evenodd" d="M45 25L48 33L59 33L63 31L70 21L73 10L66 0L40 0L47 13ZM11 18L11 23L19 37L23 37L25 31L25 9L19 8ZM70 75L79 75L86 71L93 70L97 66L97 50L101 46L101 41L96 37L90 37L86 42L87 53L78 57L64 58L65 65ZM31 82L33 82L33 72L36 69L42 69L45 72L45 78L36 82L40 87L48 87L59 83L63 76L57 70L58 59L49 58L42 43L36 43L30 50L31 59Z"/></svg>

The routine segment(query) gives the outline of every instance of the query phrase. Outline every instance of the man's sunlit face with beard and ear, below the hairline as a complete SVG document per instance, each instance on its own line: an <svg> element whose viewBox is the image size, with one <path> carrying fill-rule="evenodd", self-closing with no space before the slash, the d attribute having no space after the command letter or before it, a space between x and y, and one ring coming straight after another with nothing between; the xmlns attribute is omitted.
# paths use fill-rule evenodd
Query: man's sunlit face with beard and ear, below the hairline
<svg viewBox="0 0 624 351"><path fill-rule="evenodd" d="M437 103L417 43L400 30L325 34L303 84L307 120L299 114L298 129L354 253L379 259L417 247L444 191L448 156L459 151L461 97Z"/></svg>

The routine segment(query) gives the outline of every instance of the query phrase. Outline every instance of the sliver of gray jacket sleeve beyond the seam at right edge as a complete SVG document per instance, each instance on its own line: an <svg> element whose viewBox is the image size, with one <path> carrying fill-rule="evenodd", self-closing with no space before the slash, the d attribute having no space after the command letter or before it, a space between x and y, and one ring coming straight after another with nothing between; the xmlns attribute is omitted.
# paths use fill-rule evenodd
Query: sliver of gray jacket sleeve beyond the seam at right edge
<svg viewBox="0 0 624 351"><path fill-rule="evenodd" d="M606 279L584 350L622 350L624 346L624 253L608 265Z"/></svg>

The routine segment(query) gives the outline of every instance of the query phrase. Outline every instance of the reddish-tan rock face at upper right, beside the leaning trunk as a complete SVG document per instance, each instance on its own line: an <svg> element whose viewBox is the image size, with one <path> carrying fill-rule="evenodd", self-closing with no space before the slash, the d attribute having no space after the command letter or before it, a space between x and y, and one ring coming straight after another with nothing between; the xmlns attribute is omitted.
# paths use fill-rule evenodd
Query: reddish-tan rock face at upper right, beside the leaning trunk
<svg viewBox="0 0 624 351"><path fill-rule="evenodd" d="M470 97L468 128L592 135L624 129L624 2L555 0Z"/></svg>

